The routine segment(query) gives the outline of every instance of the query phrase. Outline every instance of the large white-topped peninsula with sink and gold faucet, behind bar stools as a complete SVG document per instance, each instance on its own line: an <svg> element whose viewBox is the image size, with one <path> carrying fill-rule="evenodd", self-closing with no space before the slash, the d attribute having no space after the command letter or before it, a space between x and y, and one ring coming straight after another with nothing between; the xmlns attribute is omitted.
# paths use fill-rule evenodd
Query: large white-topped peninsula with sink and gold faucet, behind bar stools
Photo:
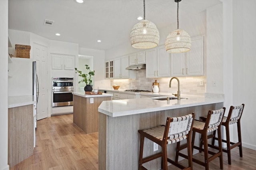
<svg viewBox="0 0 256 170"><path fill-rule="evenodd" d="M166 94L168 96L171 94ZM224 98L182 95L184 99L166 101L165 97L104 101L99 106L99 170L136 170L140 136L139 129L163 125L167 117L178 117L195 112L196 119L208 110L223 107ZM160 99L160 100L159 100ZM196 136L195 144L199 144ZM176 145L175 145L176 146ZM174 158L174 145L169 145L168 157ZM153 151L153 142L144 140L143 157L160 152ZM161 158L144 164L148 170L160 169Z"/></svg>

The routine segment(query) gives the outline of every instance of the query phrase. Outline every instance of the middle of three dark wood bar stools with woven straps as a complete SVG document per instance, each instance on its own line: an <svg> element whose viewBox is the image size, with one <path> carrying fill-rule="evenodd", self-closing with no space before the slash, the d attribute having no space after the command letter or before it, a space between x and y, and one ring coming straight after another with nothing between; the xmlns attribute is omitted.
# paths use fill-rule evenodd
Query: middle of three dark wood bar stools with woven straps
<svg viewBox="0 0 256 170"><path fill-rule="evenodd" d="M204 151L204 162L197 160L195 158L192 158L193 162L196 162L197 164L200 164L205 167L206 170L209 170L209 162L214 160L215 158L219 157L220 158L220 169L223 169L223 158L222 158L222 146L221 146L221 137L218 138L218 152L212 152L208 150L208 136L207 133L209 132L214 132L218 130L218 136L221 136L221 122L223 119L223 115L225 113L226 108L223 107L222 109L216 110L216 111L209 111L206 121L194 121L194 125L192 128L192 152L193 148L201 151ZM204 145L204 148L202 146L194 146L194 140L195 140L195 134L200 133L201 134L201 143ZM188 156L185 154L180 153L180 150L186 148L186 145L180 146L180 143L177 143L177 149L176 149L176 158L175 161L178 161L178 156L182 156L183 158L188 159ZM212 156L208 156L208 154L211 154Z"/></svg>

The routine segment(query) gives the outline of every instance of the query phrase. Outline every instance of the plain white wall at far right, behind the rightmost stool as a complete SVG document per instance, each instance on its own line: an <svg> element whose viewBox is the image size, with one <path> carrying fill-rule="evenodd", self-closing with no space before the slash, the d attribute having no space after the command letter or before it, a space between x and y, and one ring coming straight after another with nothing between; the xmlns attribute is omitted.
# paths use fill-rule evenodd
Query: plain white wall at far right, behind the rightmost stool
<svg viewBox="0 0 256 170"><path fill-rule="evenodd" d="M233 103L245 104L241 119L243 146L256 150L256 1L233 1ZM234 127L236 137L236 127ZM237 137L235 138L237 140Z"/></svg>

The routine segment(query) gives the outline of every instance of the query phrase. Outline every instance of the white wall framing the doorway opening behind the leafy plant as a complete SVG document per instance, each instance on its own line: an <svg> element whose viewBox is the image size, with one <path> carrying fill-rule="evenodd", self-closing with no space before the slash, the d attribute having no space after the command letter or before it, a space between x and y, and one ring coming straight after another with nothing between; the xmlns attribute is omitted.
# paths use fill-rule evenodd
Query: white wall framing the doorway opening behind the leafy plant
<svg viewBox="0 0 256 170"><path fill-rule="evenodd" d="M93 89L97 89L103 85L110 86L110 80L105 80L105 51L98 49L79 48L79 55L90 55L93 56L93 69L95 70L94 85ZM77 58L78 61L78 58ZM76 62L77 62L76 61ZM77 67L77 65L76 65ZM76 75L78 80L78 75ZM78 87L78 81L76 81L76 87ZM76 89L78 91L78 89Z"/></svg>

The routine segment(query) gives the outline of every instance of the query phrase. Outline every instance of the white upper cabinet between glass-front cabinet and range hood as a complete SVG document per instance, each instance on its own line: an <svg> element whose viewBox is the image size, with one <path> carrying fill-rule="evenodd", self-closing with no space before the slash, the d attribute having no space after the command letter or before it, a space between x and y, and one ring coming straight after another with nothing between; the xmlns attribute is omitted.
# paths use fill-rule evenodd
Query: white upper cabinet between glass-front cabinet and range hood
<svg viewBox="0 0 256 170"><path fill-rule="evenodd" d="M126 70L126 67L128 66L129 66L129 55L114 59L114 78L128 79L129 70Z"/></svg>

